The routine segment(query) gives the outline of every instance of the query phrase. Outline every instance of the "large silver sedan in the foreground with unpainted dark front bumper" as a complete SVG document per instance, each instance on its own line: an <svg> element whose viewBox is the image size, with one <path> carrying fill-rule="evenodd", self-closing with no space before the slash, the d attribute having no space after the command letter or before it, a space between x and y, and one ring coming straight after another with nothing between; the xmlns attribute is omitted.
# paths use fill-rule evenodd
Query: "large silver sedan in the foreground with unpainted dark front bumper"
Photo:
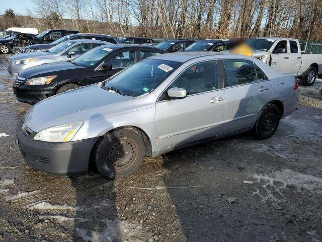
<svg viewBox="0 0 322 242"><path fill-rule="evenodd" d="M214 52L148 57L108 80L34 105L17 128L32 167L118 178L155 157L198 142L253 131L271 137L297 109L294 75L258 59Z"/></svg>

